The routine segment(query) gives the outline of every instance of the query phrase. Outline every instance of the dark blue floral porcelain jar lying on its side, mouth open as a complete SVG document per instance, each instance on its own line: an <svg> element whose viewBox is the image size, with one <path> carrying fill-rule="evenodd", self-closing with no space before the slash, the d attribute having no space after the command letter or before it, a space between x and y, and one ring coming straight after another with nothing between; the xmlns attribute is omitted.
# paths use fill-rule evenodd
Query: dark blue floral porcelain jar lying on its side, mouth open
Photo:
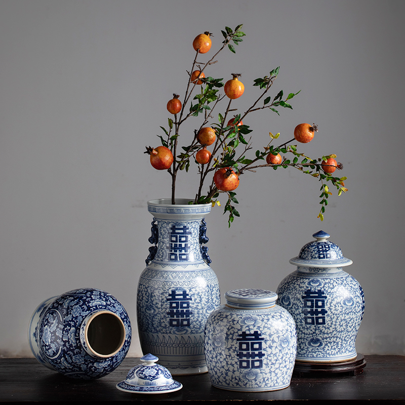
<svg viewBox="0 0 405 405"><path fill-rule="evenodd" d="M67 377L91 380L111 373L124 360L131 344L131 322L112 295L77 289L36 308L28 342L44 366Z"/></svg>

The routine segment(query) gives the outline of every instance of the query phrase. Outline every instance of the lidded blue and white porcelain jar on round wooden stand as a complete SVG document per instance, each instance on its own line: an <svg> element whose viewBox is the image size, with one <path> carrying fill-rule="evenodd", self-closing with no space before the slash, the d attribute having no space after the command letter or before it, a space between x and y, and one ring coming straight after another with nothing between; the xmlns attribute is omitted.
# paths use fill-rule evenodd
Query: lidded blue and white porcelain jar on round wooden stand
<svg viewBox="0 0 405 405"><path fill-rule="evenodd" d="M299 256L290 260L297 270L280 282L278 305L297 326L297 361L333 363L357 357L355 341L365 300L357 280L343 271L352 264L341 249L319 231Z"/></svg>

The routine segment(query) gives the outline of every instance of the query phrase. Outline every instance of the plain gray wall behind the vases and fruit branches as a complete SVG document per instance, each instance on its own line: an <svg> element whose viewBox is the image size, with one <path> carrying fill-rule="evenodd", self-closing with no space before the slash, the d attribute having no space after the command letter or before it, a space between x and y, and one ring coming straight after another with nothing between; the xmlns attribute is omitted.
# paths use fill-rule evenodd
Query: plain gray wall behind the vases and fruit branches
<svg viewBox="0 0 405 405"><path fill-rule="evenodd" d="M247 36L236 55L224 51L207 71L242 73L245 94L233 107L245 111L259 92L253 80L277 66L273 96L302 90L294 110L250 114L254 147L269 131L287 141L297 124L317 123L300 150L337 154L349 191L330 197L321 223L315 179L297 170L242 176L241 217L230 229L222 208L206 218L221 294L275 291L295 270L289 259L322 229L353 260L346 270L365 291L357 351L405 354L404 15L401 0L1 0L0 355L31 356L32 311L80 287L123 303L129 354L141 355L146 201L170 195L145 145L158 145L167 101L184 93L193 38L215 35L204 62L220 30L241 23ZM199 126L189 125L183 139ZM192 197L196 179L194 167L182 174L177 195Z"/></svg>

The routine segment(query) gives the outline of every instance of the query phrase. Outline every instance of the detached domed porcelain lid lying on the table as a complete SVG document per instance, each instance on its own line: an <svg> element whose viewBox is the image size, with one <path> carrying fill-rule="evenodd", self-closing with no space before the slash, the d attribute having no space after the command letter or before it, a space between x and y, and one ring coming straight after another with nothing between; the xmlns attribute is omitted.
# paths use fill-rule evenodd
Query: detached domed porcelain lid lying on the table
<svg viewBox="0 0 405 405"><path fill-rule="evenodd" d="M141 357L142 364L131 369L126 380L116 387L121 391L138 394L161 394L181 389L183 385L173 380L166 367L155 364L157 360L158 357L150 353Z"/></svg>

